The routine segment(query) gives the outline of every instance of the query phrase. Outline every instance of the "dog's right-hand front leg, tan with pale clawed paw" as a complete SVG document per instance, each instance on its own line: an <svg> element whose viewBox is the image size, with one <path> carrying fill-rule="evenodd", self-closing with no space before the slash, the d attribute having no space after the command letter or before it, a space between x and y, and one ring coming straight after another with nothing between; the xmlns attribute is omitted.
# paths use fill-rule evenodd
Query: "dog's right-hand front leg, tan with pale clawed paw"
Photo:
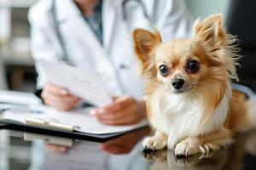
<svg viewBox="0 0 256 170"><path fill-rule="evenodd" d="M190 156L201 153L203 156L209 154L210 150L219 150L221 146L232 143L230 130L221 128L212 133L197 137L188 137L175 147L175 155Z"/></svg>

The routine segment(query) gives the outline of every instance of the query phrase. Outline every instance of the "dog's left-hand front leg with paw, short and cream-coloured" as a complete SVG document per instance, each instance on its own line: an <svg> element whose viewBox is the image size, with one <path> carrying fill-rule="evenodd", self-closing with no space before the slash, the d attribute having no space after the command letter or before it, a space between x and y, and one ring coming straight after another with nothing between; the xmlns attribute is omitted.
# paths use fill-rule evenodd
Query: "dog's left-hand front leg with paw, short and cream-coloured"
<svg viewBox="0 0 256 170"><path fill-rule="evenodd" d="M167 135L162 132L155 132L154 136L148 137L143 140L143 146L149 150L162 150L166 148Z"/></svg>

